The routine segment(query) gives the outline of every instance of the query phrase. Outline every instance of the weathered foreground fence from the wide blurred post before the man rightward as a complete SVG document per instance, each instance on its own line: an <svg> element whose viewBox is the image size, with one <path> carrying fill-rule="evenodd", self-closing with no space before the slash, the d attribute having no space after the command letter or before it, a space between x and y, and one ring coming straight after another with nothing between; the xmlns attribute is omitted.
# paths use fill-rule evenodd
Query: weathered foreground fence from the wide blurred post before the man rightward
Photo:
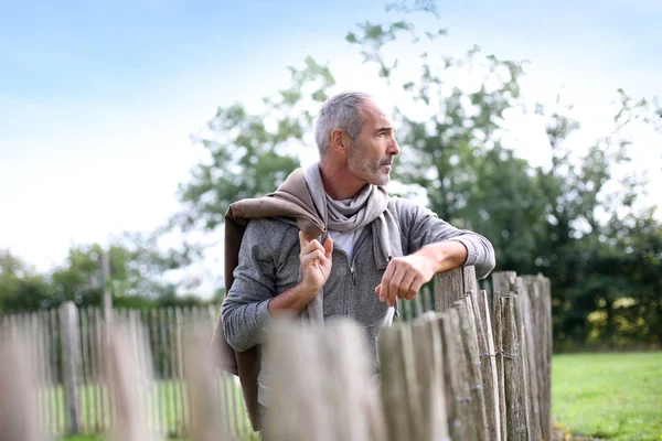
<svg viewBox="0 0 662 441"><path fill-rule="evenodd" d="M279 323L267 438L551 440L549 282L502 272L493 286L479 291L473 268L439 275L435 311L382 331L378 386L352 322Z"/></svg>

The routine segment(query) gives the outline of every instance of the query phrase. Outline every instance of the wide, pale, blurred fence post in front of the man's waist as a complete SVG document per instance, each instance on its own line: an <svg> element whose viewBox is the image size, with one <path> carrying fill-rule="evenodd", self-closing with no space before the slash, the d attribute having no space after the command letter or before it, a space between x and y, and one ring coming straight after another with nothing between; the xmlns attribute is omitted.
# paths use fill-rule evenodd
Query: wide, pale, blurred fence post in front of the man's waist
<svg viewBox="0 0 662 441"><path fill-rule="evenodd" d="M355 323L276 321L268 342L268 440L385 440L365 334Z"/></svg>

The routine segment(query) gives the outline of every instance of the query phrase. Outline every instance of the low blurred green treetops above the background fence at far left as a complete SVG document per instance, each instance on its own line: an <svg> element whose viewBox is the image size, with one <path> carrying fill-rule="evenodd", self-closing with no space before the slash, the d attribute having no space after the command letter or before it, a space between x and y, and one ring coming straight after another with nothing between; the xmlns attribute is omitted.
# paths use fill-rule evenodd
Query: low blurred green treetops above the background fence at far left
<svg viewBox="0 0 662 441"><path fill-rule="evenodd" d="M186 251L163 251L157 237L125 234L107 247L99 244L73 246L58 268L38 273L9 250L0 250L0 313L56 308L73 301L79 306L100 306L105 277L102 256L108 256L108 289L115 306L148 308L193 305L204 301L185 295L186 287L164 278L169 270L191 262Z"/></svg>

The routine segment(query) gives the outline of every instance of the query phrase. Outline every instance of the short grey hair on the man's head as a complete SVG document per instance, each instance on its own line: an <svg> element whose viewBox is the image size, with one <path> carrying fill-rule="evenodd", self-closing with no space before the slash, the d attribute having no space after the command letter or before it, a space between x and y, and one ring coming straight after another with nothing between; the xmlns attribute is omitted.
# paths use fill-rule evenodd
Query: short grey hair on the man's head
<svg viewBox="0 0 662 441"><path fill-rule="evenodd" d="M363 128L359 115L359 106L372 98L362 92L345 92L327 99L320 108L320 115L314 123L314 141L323 157L331 143L331 132L340 129L355 141Z"/></svg>

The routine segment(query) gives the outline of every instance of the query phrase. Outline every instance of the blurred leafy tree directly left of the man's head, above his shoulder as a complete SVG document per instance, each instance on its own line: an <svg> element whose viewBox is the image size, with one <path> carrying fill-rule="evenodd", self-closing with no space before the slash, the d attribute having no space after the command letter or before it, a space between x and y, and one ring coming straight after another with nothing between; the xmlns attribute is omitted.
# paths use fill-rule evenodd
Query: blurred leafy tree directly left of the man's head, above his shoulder
<svg viewBox="0 0 662 441"><path fill-rule="evenodd" d="M300 165L297 149L310 130L310 101L322 103L334 84L328 66L308 57L302 69L289 67L288 89L264 99L264 110L250 114L242 104L218 107L195 141L206 158L180 185L183 209L171 220L183 230L214 230L231 203L273 192Z"/></svg>

